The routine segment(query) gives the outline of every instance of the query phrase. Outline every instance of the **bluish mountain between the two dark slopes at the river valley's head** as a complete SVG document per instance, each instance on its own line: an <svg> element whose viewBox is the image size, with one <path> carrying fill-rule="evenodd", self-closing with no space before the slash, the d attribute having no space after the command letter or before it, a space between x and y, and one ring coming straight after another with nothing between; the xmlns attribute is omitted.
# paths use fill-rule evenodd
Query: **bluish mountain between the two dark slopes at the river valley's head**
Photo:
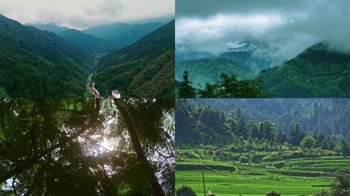
<svg viewBox="0 0 350 196"><path fill-rule="evenodd" d="M62 31L59 36L97 57L120 47L116 41L98 38L75 29Z"/></svg>

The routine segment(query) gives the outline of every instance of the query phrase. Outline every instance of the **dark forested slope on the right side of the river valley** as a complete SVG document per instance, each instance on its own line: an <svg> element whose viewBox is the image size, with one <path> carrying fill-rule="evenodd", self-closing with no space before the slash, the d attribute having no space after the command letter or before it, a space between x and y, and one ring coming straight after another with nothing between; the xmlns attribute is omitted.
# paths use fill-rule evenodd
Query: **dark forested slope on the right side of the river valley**
<svg viewBox="0 0 350 196"><path fill-rule="evenodd" d="M101 59L93 78L100 93L115 89L123 97L173 97L174 24Z"/></svg>

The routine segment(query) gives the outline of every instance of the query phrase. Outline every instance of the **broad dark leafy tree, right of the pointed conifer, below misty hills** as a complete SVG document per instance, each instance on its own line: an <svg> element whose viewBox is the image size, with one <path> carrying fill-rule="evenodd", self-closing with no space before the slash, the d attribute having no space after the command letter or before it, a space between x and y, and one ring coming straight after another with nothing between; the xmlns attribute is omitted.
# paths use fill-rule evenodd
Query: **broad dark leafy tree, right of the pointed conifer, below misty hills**
<svg viewBox="0 0 350 196"><path fill-rule="evenodd" d="M262 88L264 78L259 76L252 80L237 80L236 75L228 76L221 73L215 84L207 83L204 89L199 89L203 98L270 98L272 93Z"/></svg>

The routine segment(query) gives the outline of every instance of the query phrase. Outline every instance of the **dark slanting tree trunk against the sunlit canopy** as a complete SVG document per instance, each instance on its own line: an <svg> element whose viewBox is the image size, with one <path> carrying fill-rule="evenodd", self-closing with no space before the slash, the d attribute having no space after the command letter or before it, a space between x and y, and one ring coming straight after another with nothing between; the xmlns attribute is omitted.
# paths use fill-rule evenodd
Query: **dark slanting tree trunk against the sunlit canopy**
<svg viewBox="0 0 350 196"><path fill-rule="evenodd" d="M151 187L155 191L156 195L164 196L163 189L162 189L161 185L159 184L158 179L157 179L152 167L150 166L150 164L146 158L146 155L142 149L142 146L141 146L141 143L139 140L139 136L137 135L136 130L135 130L135 126L133 124L133 120L131 119L131 117L130 117L129 113L126 111L126 109L120 105L119 99L114 99L114 103L117 106L118 110L120 111L120 113L124 119L127 131L129 132L129 135L130 135L130 139L133 142L133 146L134 146L134 149L136 151L137 158L139 159L139 161L144 169L144 172L148 178L148 181L149 181Z"/></svg>

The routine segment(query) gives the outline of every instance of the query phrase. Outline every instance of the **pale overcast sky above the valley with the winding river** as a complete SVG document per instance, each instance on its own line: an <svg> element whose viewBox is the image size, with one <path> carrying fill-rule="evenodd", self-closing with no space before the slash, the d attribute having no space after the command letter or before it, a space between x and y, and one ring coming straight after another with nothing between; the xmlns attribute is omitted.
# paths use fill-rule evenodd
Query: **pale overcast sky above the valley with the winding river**
<svg viewBox="0 0 350 196"><path fill-rule="evenodd" d="M21 23L84 29L117 21L171 17L174 0L1 0L0 14Z"/></svg>

